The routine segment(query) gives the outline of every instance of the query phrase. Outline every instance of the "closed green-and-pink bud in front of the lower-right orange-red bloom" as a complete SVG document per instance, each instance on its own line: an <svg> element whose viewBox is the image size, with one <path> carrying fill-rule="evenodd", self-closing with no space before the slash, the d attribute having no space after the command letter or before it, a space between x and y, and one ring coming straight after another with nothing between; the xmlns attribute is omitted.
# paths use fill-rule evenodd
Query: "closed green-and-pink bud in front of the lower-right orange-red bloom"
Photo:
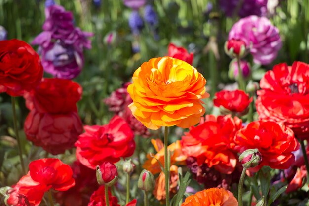
<svg viewBox="0 0 309 206"><path fill-rule="evenodd" d="M239 161L244 168L256 167L261 163L262 155L258 149L248 149L241 153Z"/></svg>

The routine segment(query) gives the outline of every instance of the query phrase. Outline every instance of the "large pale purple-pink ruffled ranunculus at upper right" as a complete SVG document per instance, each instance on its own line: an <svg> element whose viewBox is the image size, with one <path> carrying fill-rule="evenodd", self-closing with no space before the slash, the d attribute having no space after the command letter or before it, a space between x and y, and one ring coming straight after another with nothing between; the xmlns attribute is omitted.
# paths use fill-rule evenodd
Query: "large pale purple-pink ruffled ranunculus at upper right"
<svg viewBox="0 0 309 206"><path fill-rule="evenodd" d="M253 60L270 64L282 46L279 29L266 17L248 16L236 22L229 33L229 40L242 40L250 47Z"/></svg>

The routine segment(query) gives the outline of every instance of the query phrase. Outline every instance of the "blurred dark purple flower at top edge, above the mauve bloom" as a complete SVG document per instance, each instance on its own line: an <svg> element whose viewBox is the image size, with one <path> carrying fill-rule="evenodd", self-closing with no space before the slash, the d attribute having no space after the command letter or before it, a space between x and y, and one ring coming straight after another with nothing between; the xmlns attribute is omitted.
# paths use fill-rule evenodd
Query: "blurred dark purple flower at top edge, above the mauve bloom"
<svg viewBox="0 0 309 206"><path fill-rule="evenodd" d="M219 4L222 11L227 16L233 16L235 12L240 17L250 15L264 16L267 13L267 0L242 0L242 4L238 7L240 0L220 0Z"/></svg>

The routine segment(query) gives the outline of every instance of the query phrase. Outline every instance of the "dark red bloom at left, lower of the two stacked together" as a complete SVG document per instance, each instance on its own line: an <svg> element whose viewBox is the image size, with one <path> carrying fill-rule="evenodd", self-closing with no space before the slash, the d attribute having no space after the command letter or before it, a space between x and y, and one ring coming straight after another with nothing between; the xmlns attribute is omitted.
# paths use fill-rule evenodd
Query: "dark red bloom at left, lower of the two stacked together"
<svg viewBox="0 0 309 206"><path fill-rule="evenodd" d="M53 155L72 148L82 130L77 112L50 114L33 109L24 124L27 139Z"/></svg>

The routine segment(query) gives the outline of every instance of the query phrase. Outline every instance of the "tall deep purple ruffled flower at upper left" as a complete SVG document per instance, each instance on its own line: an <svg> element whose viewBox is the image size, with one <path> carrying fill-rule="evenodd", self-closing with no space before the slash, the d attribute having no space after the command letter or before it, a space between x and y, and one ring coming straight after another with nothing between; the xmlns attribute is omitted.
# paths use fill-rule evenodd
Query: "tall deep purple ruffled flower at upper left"
<svg viewBox="0 0 309 206"><path fill-rule="evenodd" d="M84 64L83 49L91 48L88 38L93 34L74 27L72 12L62 6L47 7L45 15L43 32L32 44L39 45L45 72L57 78L73 79L81 72Z"/></svg>

